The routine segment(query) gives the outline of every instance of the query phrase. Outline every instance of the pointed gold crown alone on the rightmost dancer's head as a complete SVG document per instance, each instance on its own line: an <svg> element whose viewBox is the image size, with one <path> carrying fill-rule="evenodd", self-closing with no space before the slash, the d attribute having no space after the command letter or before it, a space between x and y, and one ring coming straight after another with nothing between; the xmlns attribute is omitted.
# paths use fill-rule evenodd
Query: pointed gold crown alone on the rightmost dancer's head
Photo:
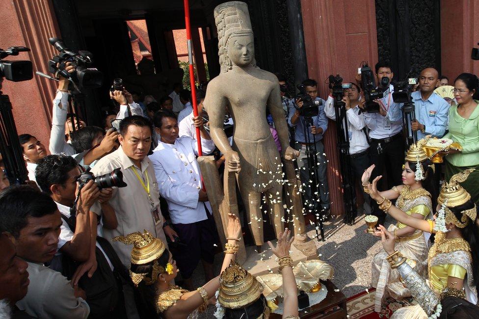
<svg viewBox="0 0 479 319"><path fill-rule="evenodd" d="M474 168L466 169L460 173L452 175L449 182L441 186L441 192L437 198L439 204L446 203L447 207L456 207L466 203L471 199L471 195L459 183L464 182L474 171Z"/></svg>

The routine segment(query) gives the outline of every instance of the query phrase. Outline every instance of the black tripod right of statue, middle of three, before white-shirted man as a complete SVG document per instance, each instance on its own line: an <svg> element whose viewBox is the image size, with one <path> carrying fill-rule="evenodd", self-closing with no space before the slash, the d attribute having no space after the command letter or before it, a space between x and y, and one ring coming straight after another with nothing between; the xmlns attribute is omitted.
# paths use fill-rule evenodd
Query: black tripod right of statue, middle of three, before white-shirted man
<svg viewBox="0 0 479 319"><path fill-rule="evenodd" d="M343 197L345 203L344 223L354 224L354 178L351 167L351 158L349 154L349 132L346 117L346 106L341 101L341 95L334 96L334 112L336 115L336 136L339 150L339 162L341 181L343 187Z"/></svg>

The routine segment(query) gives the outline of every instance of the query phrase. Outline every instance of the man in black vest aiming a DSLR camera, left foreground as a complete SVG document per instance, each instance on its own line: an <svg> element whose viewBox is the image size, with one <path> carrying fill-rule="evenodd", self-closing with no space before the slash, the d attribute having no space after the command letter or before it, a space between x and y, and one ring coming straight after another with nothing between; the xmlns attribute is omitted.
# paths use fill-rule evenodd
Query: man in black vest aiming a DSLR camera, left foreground
<svg viewBox="0 0 479 319"><path fill-rule="evenodd" d="M62 217L57 245L61 255L57 259L66 267L59 268L59 263L50 267L72 278L74 285L79 284L85 290L91 317L121 318L119 316L124 314L123 301L119 302L123 300L122 284L115 277L126 269L109 242L97 238L97 233L103 234L102 226L109 229L117 226L115 212L108 204L112 189L100 190L91 180L80 189L77 182L80 174L77 162L67 156L49 155L37 166L37 181L42 191L55 201ZM97 199L102 203L102 223L98 223L98 216L90 212Z"/></svg>

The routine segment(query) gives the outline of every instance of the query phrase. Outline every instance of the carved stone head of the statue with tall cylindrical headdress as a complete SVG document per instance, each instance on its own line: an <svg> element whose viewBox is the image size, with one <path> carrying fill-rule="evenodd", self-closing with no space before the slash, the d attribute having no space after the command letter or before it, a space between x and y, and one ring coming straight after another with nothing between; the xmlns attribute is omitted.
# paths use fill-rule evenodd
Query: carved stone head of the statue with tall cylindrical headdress
<svg viewBox="0 0 479 319"><path fill-rule="evenodd" d="M228 72L233 65L256 66L253 29L246 3L231 1L218 5L214 9L214 20L221 73Z"/></svg>

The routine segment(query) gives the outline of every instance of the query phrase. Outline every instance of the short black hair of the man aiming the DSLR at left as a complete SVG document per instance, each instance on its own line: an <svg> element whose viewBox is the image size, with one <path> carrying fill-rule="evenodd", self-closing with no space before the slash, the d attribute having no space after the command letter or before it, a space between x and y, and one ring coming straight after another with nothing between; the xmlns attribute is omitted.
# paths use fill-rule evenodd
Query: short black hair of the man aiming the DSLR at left
<svg viewBox="0 0 479 319"><path fill-rule="evenodd" d="M70 156L47 155L37 163L35 180L43 192L52 195L50 186L64 186L68 180L68 172L76 167L77 161Z"/></svg>

